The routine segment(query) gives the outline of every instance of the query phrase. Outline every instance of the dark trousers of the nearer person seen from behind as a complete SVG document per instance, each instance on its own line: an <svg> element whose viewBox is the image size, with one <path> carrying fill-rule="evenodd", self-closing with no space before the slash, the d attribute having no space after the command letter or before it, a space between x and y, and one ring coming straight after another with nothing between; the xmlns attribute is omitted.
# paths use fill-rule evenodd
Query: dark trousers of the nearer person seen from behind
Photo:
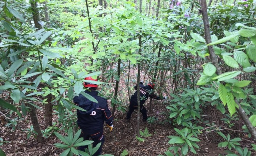
<svg viewBox="0 0 256 156"><path fill-rule="evenodd" d="M81 128L82 129L82 128ZM102 145L104 144L105 138L103 135L103 129L102 130L85 130L82 129L82 133L80 135L80 137L83 137L83 140L89 140L89 138L92 139L92 141L94 141L92 143L93 147L96 147L96 145L98 143L101 143L100 148L98 149L98 151L96 153L94 153L94 155L92 156L99 156L101 151L102 151ZM84 148L88 148L88 146L80 146L78 147L78 149L80 151L84 151Z"/></svg>

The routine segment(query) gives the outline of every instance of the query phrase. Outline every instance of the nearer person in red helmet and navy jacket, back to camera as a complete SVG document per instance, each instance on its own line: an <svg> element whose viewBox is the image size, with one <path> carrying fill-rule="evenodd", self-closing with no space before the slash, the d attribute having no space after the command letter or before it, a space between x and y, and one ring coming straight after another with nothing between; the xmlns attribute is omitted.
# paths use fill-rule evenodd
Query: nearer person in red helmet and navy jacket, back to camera
<svg viewBox="0 0 256 156"><path fill-rule="evenodd" d="M92 77L86 77L85 80L97 81L92 79ZM91 138L94 143L93 147L95 147L98 143L101 143L100 148L93 156L100 155L102 151L102 145L104 143L104 135L103 135L103 124L104 121L107 123L107 126L112 131L113 128L113 117L111 115L111 111L108 109L107 100L105 98L99 97L98 85L93 83L84 82L84 87L88 90L85 90L85 93L94 97L97 101L92 102L84 97L82 94L74 97L74 103L87 111L77 110L77 124L82 130L81 136L84 140L89 140ZM84 148L87 146L81 146L78 149L80 151L84 151Z"/></svg>

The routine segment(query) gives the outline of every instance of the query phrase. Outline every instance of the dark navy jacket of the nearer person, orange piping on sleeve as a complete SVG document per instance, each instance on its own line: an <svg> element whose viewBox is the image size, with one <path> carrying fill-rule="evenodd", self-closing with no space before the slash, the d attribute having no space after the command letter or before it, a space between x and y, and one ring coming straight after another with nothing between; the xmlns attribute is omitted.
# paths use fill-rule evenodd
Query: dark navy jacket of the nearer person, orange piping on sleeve
<svg viewBox="0 0 256 156"><path fill-rule="evenodd" d="M108 125L112 125L113 117L108 109L107 100L99 97L97 91L86 90L85 93L90 94L99 103L92 102L82 94L74 97L74 103L87 111L77 110L77 124L80 128L86 130L102 130L103 123L106 121Z"/></svg>

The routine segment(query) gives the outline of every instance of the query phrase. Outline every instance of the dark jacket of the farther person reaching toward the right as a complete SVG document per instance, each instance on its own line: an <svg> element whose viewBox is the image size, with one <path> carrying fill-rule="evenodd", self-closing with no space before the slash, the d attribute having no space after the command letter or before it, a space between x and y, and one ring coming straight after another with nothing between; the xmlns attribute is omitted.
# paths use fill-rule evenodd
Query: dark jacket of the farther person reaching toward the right
<svg viewBox="0 0 256 156"><path fill-rule="evenodd" d="M134 86L134 89L137 90L137 85ZM142 82L140 82L140 104L143 105L145 101L148 99L148 97L154 98L156 100L164 99L164 97L157 96L153 94L153 89L149 85L143 85ZM137 104L137 91L131 96L130 102L133 105Z"/></svg>

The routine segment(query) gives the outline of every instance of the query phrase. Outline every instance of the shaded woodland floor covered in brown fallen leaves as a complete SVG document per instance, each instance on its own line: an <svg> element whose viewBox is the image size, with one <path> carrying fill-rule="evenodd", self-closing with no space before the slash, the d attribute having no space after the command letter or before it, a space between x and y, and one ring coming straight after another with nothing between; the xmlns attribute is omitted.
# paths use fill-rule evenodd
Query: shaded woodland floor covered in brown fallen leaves
<svg viewBox="0 0 256 156"><path fill-rule="evenodd" d="M135 71L135 70L134 70ZM135 79L135 73L132 72L132 79ZM121 92L125 92L126 84L124 83L124 76L121 77L120 81L120 90ZM170 88L169 88L170 89ZM132 92L133 93L133 92ZM124 100L124 106L128 107L128 97L127 94L120 94L120 98L126 99ZM2 94L4 96L4 94ZM171 98L171 97L170 97ZM110 100L108 100L108 105L110 110L112 110ZM147 127L149 130L148 138L144 138L144 142L139 142L136 139L136 118L137 118L137 111L134 111L129 122L126 121L126 112L122 112L117 110L115 113L114 118L114 127L113 131L110 132L106 126L104 126L104 135L105 135L105 143L103 145L102 154L112 154L114 156L120 156L121 153L126 149L129 153L128 156L158 156L164 155L164 152L171 146L168 144L169 135L176 135L174 131L174 127L169 118L169 111L166 109L168 106L168 102L164 100L153 100L152 101L152 111L149 111L149 100L146 101L144 104L148 111L148 116L152 117L155 116L158 118L156 122L153 124L149 124L147 122L142 122L141 116L141 123L140 129L145 130ZM37 117L39 120L40 125L42 125L41 129L44 130L48 126L44 123L44 106L41 106L42 110L37 110ZM74 110L75 112L75 110ZM141 114L140 114L141 115ZM218 122L218 116L222 115L216 108L207 107L204 109L204 113L202 114L203 121L208 121L208 123ZM13 117L12 117L13 118ZM53 122L58 121L58 116L54 115ZM27 123L29 122L29 123ZM54 147L54 143L61 143L61 141L53 135L49 138L44 139L43 143L37 143L36 139L33 136L30 136L29 139L26 139L27 133L22 131L22 129L29 128L32 123L29 120L29 116L25 117L23 121L20 121L18 124L17 132L15 134L15 139L13 142L14 149L16 151L16 156L58 156L63 149L59 149ZM61 125L56 125L61 127ZM197 149L197 156L219 156L219 155L227 155L225 150L227 148L218 148L218 144L223 142L223 138L219 136L216 130L209 131L210 128L205 123L198 124L198 126L202 126L205 129L202 133L198 136L198 139L201 142L198 142L200 149ZM12 127L5 127L2 124L0 125L0 134L5 141L9 141L10 143L5 143L4 145L0 146L1 149L5 151L7 156L15 156L13 153L12 148ZM176 127L182 129L184 127L179 126ZM223 128L222 128L223 129ZM225 129L225 128L224 128ZM241 147L247 147L250 149L251 143L254 143L252 139L249 139L245 133L240 131L235 131L231 129L222 130L223 134L227 135L228 133L231 135L231 138L240 137L242 141L240 142ZM59 131L59 133L65 135L63 131ZM194 156L194 153L189 153L187 156ZM252 153L252 156L256 155L256 153Z"/></svg>

